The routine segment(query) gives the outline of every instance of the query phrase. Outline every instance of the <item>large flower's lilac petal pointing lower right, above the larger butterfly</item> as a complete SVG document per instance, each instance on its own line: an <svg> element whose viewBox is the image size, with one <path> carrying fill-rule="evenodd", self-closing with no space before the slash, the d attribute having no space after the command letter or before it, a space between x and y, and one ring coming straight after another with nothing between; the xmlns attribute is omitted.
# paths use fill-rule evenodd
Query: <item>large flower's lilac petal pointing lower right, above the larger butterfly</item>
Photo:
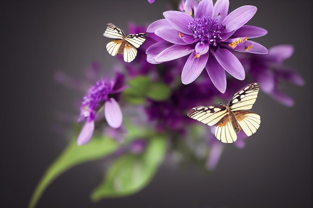
<svg viewBox="0 0 313 208"><path fill-rule="evenodd" d="M240 61L227 49L217 48L214 52L217 62L234 78L243 80L245 73Z"/></svg>

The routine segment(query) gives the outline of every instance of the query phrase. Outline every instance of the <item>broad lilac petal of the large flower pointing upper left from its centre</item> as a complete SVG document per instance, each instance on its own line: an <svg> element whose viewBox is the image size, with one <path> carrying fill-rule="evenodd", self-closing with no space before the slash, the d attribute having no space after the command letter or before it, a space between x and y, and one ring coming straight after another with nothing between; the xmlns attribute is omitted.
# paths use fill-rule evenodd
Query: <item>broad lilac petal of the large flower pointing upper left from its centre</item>
<svg viewBox="0 0 313 208"><path fill-rule="evenodd" d="M188 29L189 22L194 21L192 16L181 11L164 11L163 16L177 31L192 35L191 30Z"/></svg>

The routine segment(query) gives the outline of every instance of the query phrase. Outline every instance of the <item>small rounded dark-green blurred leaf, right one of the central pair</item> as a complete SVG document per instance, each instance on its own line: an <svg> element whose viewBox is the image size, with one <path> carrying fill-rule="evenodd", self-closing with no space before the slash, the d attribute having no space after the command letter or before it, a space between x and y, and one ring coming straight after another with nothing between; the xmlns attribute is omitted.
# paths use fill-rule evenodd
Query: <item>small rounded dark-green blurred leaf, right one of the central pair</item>
<svg viewBox="0 0 313 208"><path fill-rule="evenodd" d="M151 83L146 96L152 100L162 101L170 96L170 88L163 82Z"/></svg>

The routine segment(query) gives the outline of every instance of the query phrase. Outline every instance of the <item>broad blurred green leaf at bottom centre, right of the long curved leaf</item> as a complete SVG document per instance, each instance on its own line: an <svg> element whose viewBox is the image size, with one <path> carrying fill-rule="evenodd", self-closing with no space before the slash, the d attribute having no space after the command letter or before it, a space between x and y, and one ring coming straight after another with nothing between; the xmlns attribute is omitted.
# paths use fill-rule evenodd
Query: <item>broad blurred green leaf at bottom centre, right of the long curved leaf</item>
<svg viewBox="0 0 313 208"><path fill-rule="evenodd" d="M123 155L108 168L103 182L91 193L91 200L124 197L143 189L153 178L163 160L166 141L161 136L150 139L141 155Z"/></svg>

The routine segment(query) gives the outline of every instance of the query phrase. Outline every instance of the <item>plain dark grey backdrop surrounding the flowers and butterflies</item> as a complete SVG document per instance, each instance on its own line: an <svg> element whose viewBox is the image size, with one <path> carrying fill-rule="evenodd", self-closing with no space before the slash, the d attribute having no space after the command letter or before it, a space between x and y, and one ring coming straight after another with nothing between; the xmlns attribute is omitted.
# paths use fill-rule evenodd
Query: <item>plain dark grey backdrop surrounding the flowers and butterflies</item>
<svg viewBox="0 0 313 208"><path fill-rule="evenodd" d="M102 36L107 22L127 32L127 22L162 18L165 0L6 0L0 3L1 145L0 207L25 208L46 168L68 142L55 130L59 115L77 113L78 92L54 80L56 71L83 78L92 61L110 70L115 61ZM284 85L291 108L260 92L253 111L259 130L244 149L227 145L216 170L161 167L141 192L93 204L101 161L72 168L43 193L37 208L309 208L312 203L312 1L230 0L229 11L258 8L248 22L268 30L267 48L292 44L286 64L305 79ZM66 126L64 126L66 128Z"/></svg>

